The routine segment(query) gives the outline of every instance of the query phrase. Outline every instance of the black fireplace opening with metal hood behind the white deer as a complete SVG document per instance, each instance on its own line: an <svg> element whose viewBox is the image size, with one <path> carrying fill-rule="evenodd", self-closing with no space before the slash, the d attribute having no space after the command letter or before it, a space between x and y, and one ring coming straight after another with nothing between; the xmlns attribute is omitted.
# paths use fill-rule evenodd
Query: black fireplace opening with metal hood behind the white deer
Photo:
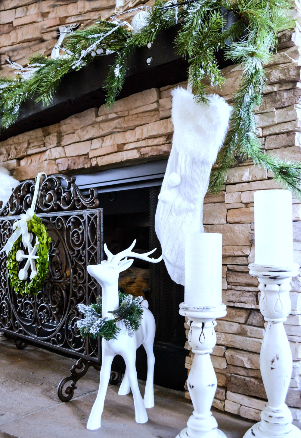
<svg viewBox="0 0 301 438"><path fill-rule="evenodd" d="M126 179L125 174L122 174L123 182L118 177L125 170L117 169L113 172L114 181L111 180L107 185L104 179L108 177L102 176L103 181L94 184L92 179L92 187L97 186L100 207L104 211L103 241L113 254L129 247L134 239L137 240L135 252L147 252L156 247L154 256L159 257L161 254L155 233L155 213L165 166L166 162L154 162L147 166L128 167ZM107 173L112 178L112 171ZM142 184L137 173L143 177ZM148 173L152 176L149 177ZM133 174L134 177L131 177ZM83 184L87 179L84 176L77 177L76 183L82 190L85 188L83 186L91 187L91 180L89 184ZM135 259L132 266L120 274L119 288L125 293L145 297L155 317L155 384L183 390L187 378L185 357L188 353L184 349L184 318L179 314L179 304L184 299L183 286L170 279L163 261L152 264ZM116 361L124 367L121 357L116 358ZM138 378L145 380L147 364L143 347L137 351L136 367Z"/></svg>

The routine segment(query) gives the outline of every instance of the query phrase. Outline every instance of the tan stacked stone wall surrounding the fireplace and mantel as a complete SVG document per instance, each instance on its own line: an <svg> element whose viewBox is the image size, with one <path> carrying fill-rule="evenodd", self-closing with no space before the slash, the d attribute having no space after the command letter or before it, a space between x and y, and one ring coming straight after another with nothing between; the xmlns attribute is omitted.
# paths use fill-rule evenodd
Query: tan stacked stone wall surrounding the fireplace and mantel
<svg viewBox="0 0 301 438"><path fill-rule="evenodd" d="M113 0L70 0L63 4L57 0L2 0L0 61L4 67L6 55L21 64L32 53L48 55L59 25L107 18L113 9ZM278 39L278 53L267 66L266 97L256 116L258 134L266 153L300 160L300 34L298 30L285 31ZM5 67L0 75L9 71ZM226 83L218 92L231 103L241 69L232 66L224 72ZM34 178L38 171L92 172L167 158L173 134L171 88L152 88L119 100L111 111L105 106L88 109L61 123L9 138L0 143L0 162L19 180L24 180ZM259 420L266 399L259 370L264 321L259 312L258 282L249 276L248 269L248 264L254 261L253 194L256 190L278 188L271 177L252 162L237 162L229 170L220 196L206 196L204 201L205 230L223 234L223 302L228 307L227 316L218 321L218 342L211 356L218 377L214 406L253 420ZM293 212L295 261L300 265L301 208L295 198ZM294 370L287 403L300 425L300 277L292 282L291 300L292 311L285 328ZM188 371L191 362L190 353L186 361Z"/></svg>

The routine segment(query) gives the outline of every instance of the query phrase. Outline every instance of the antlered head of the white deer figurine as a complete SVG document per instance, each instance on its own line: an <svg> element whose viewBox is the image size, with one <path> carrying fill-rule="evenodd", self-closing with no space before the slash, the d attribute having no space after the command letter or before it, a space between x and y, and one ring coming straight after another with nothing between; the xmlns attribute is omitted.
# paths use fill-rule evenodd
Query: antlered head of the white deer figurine
<svg viewBox="0 0 301 438"><path fill-rule="evenodd" d="M108 250L107 245L104 244L104 252L107 254L107 260L103 260L99 265L89 265L87 266L87 271L90 276L95 278L101 287L111 286L118 283L119 273L128 269L133 263L134 259L129 259L128 257L135 257L141 260L150 261L151 263L158 263L162 260L163 255L159 258L150 258L149 255L156 251L157 248L152 251L146 252L145 254L138 254L131 251L136 244L136 240L131 244L130 247L118 254L112 254Z"/></svg>

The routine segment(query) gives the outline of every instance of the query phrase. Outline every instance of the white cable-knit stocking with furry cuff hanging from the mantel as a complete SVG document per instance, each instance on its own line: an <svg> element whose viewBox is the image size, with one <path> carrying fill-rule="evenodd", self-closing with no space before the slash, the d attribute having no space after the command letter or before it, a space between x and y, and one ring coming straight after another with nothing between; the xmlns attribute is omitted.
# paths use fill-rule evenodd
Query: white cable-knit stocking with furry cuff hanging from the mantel
<svg viewBox="0 0 301 438"><path fill-rule="evenodd" d="M218 95L209 100L209 105L196 103L189 91L173 90L173 147L160 192L169 191L171 198L158 202L155 226L167 271L173 281L183 285L185 237L204 232L204 196L232 110ZM168 182L173 172L181 177L175 187Z"/></svg>

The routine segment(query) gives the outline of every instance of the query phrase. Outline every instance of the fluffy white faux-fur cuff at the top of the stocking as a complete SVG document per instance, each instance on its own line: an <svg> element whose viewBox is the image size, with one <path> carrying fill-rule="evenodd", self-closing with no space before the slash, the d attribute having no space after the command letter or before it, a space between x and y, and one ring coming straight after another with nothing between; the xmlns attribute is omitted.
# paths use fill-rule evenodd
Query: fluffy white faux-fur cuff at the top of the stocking
<svg viewBox="0 0 301 438"><path fill-rule="evenodd" d="M209 95L209 105L197 103L184 88L172 91L173 125L183 135L173 137L173 145L197 161L213 164L223 144L232 107L217 94ZM197 141L196 141L197 137Z"/></svg>

